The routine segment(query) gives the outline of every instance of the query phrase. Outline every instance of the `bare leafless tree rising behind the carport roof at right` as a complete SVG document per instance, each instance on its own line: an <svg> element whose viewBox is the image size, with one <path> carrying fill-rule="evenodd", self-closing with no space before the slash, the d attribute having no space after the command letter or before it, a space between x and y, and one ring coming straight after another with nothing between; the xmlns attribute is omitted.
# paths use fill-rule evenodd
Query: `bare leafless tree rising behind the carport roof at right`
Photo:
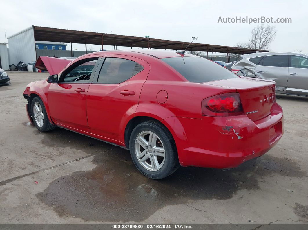
<svg viewBox="0 0 308 230"><path fill-rule="evenodd" d="M252 49L269 49L277 31L275 26L261 24L254 27L250 32L249 46Z"/></svg>

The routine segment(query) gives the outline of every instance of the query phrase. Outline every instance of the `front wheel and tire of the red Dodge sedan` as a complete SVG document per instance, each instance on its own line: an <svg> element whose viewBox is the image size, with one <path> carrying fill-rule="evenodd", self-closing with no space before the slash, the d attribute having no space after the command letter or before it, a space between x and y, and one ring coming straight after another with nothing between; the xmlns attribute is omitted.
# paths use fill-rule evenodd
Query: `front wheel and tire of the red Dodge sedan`
<svg viewBox="0 0 308 230"><path fill-rule="evenodd" d="M37 108L39 108L40 113L37 112ZM43 116L42 116L42 113L43 113ZM32 114L33 123L39 131L47 132L55 128L54 126L50 124L44 103L42 99L40 99L39 97L34 97L31 102L31 114ZM42 119L39 118L38 120L36 120L35 116L37 114L39 114L39 116L41 116Z"/></svg>

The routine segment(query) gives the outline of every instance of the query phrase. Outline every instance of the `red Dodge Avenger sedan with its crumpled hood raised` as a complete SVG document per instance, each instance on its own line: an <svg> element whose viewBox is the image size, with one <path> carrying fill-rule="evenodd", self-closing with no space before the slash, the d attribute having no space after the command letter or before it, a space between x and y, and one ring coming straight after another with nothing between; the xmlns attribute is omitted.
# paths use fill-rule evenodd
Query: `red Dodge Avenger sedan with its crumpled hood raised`
<svg viewBox="0 0 308 230"><path fill-rule="evenodd" d="M40 57L36 67L52 75L24 92L39 131L62 127L129 149L153 179L179 165L239 166L283 134L274 81L239 77L202 57L115 50Z"/></svg>

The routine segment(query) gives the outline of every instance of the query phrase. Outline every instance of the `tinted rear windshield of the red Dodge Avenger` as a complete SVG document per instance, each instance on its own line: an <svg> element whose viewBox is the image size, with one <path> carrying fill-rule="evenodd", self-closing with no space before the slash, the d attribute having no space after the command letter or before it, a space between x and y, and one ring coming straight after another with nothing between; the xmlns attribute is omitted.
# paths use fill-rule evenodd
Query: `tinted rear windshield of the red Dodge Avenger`
<svg viewBox="0 0 308 230"><path fill-rule="evenodd" d="M238 77L230 70L203 57L167 57L160 60L190 82L201 83Z"/></svg>

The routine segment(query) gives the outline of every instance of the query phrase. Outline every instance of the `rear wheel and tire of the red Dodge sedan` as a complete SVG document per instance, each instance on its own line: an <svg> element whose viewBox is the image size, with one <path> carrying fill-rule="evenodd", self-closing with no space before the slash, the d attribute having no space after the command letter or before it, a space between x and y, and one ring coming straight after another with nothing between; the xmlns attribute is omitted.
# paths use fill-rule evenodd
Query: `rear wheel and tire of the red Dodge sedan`
<svg viewBox="0 0 308 230"><path fill-rule="evenodd" d="M156 121L145 121L138 124L130 136L129 148L137 169L151 179L158 180L168 177L179 167L172 135Z"/></svg>

